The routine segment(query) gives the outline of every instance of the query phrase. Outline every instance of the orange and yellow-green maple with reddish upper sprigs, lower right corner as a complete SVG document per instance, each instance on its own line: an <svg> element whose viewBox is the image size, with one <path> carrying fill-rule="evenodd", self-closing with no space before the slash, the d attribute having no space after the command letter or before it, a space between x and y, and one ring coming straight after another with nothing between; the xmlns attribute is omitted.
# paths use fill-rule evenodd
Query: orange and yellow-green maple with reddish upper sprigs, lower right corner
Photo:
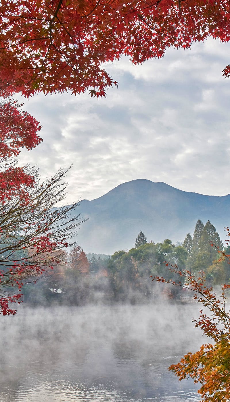
<svg viewBox="0 0 230 402"><path fill-rule="evenodd" d="M226 228L230 237L230 229ZM228 245L229 240L227 240ZM226 259L230 263L230 255L214 246L221 254L219 261ZM212 287L205 285L205 275L200 271L197 276L190 271L179 269L177 265L170 266L170 271L178 275L178 280L166 280L163 277L152 277L160 283L171 283L175 286L186 287L194 293L193 298L209 310L209 315L201 308L199 317L193 318L195 327L211 338L211 343L201 345L199 351L186 353L177 364L169 367L179 380L191 377L195 384L200 384L198 394L203 402L230 400L230 310L226 291L229 284L221 286L221 295L214 293Z"/></svg>

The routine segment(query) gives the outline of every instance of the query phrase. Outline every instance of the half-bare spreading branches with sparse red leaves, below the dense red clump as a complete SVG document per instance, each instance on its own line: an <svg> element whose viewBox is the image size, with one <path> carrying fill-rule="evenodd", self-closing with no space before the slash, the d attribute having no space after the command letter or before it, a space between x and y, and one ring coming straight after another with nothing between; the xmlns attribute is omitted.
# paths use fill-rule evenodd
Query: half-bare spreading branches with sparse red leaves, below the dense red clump
<svg viewBox="0 0 230 402"><path fill-rule="evenodd" d="M0 297L4 301L2 314L12 314L6 309L7 301L19 300L7 291L24 283L37 280L45 267L62 264L63 247L71 246L79 227L78 216L72 210L77 203L54 208L65 195L62 182L65 171L60 170L50 179L40 182L33 171L33 184L26 191L10 195L0 203ZM64 261L65 262L65 261ZM19 296L19 295L17 295ZM16 297L16 296L15 296ZM3 305L2 305L3 306Z"/></svg>

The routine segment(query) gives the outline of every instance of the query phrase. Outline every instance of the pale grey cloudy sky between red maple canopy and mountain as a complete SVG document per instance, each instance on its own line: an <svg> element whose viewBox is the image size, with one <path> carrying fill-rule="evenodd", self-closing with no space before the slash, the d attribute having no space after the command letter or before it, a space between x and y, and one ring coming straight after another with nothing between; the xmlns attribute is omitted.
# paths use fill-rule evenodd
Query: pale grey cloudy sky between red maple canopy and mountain
<svg viewBox="0 0 230 402"><path fill-rule="evenodd" d="M137 178L184 191L230 193L230 44L211 39L164 59L107 66L118 89L96 100L88 94L23 98L43 126L44 142L21 163L42 178L73 164L66 203L94 199ZM19 96L18 96L19 98Z"/></svg>

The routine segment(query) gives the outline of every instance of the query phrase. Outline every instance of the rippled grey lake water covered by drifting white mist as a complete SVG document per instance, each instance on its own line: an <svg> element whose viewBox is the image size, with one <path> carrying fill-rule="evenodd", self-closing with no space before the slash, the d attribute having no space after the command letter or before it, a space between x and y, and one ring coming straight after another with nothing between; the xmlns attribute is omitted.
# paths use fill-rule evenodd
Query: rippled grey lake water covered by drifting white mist
<svg viewBox="0 0 230 402"><path fill-rule="evenodd" d="M198 401L168 372L206 342L197 304L29 308L0 317L0 402Z"/></svg>

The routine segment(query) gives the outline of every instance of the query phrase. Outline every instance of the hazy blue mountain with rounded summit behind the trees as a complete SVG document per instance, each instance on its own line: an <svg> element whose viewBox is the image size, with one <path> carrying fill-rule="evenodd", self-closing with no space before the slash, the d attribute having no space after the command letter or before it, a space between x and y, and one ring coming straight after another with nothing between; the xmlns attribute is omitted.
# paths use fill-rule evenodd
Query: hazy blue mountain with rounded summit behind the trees
<svg viewBox="0 0 230 402"><path fill-rule="evenodd" d="M140 230L147 241L183 241L193 235L197 219L215 226L222 240L230 225L230 194L222 197L181 191L166 183L138 179L102 197L82 200L76 214L86 219L77 235L86 252L112 254L135 246Z"/></svg>

